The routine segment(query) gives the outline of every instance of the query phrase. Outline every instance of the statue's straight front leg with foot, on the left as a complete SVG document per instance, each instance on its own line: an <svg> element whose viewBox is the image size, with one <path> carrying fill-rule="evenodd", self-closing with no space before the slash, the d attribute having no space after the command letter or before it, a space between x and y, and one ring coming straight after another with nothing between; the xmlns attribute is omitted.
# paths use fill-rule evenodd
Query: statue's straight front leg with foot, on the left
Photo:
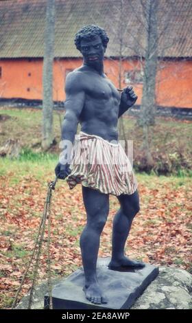
<svg viewBox="0 0 192 323"><path fill-rule="evenodd" d="M86 227L80 237L85 276L84 292L90 302L106 304L107 299L97 280L96 265L100 236L109 212L109 196L84 186L82 186L82 194L87 215Z"/></svg>

